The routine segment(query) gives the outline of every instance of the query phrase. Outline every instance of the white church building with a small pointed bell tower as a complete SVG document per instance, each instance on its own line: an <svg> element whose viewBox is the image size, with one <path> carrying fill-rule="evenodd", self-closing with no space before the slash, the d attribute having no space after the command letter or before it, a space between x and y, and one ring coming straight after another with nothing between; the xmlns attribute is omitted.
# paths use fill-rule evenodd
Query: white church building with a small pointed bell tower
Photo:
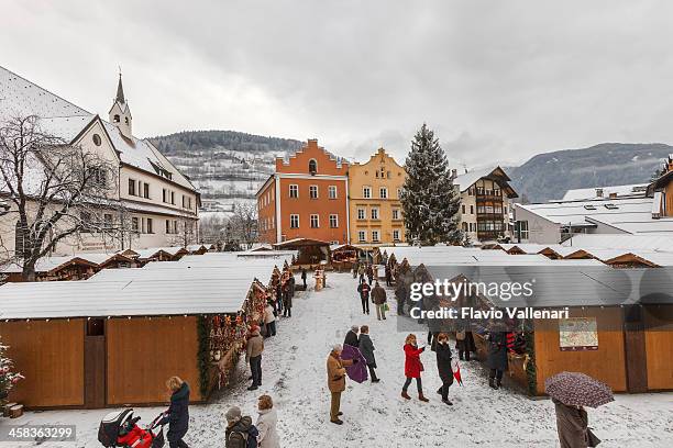
<svg viewBox="0 0 673 448"><path fill-rule="evenodd" d="M146 139L133 135L133 116L124 96L121 75L108 120L52 93L0 67L0 126L16 116L36 115L40 127L70 145L97 152L119 168L111 191L130 219L128 237L110 240L96 233L60 242L54 255L80 251L142 249L198 242L199 193L189 179ZM7 199L7 186L0 200ZM5 198L1 198L4 195ZM2 201L11 205L10 201ZM10 208L0 217L5 249L16 240L16 213Z"/></svg>

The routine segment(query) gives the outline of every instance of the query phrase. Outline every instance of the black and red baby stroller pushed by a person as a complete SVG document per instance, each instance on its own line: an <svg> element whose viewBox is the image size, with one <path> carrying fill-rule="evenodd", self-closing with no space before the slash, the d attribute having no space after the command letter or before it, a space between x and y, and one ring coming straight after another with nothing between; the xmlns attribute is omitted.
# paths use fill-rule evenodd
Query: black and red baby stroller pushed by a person
<svg viewBox="0 0 673 448"><path fill-rule="evenodd" d="M106 448L162 448L164 446L164 426L159 422L164 417L161 413L146 428L141 428L133 416L133 410L111 412L100 422L98 441ZM155 434L155 428L158 430Z"/></svg>

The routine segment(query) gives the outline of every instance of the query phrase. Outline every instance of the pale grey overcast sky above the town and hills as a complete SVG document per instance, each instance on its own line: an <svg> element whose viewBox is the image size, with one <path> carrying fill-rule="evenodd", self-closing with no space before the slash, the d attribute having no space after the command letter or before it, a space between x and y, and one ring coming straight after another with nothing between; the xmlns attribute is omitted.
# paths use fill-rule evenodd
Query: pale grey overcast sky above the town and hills
<svg viewBox="0 0 673 448"><path fill-rule="evenodd" d="M173 4L174 3L174 4ZM673 143L671 1L4 0L0 64L139 136L233 130L453 165Z"/></svg>

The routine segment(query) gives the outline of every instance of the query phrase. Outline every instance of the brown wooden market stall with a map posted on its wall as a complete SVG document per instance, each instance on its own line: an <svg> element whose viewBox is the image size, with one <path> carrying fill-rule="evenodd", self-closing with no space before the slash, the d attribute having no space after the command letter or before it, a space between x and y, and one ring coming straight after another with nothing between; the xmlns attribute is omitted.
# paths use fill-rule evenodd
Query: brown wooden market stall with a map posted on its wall
<svg viewBox="0 0 673 448"><path fill-rule="evenodd" d="M424 267L416 270L420 268ZM456 280L462 270L434 266L430 278ZM515 264L503 269L481 267L470 280L522 283L531 278L536 283L530 298L505 301L477 294L452 304L461 307L471 300L470 306L479 310L567 309L567 317L528 317L511 324L527 339L522 356L510 354L509 377L515 382L532 394L543 394L547 378L561 371L580 371L606 382L615 392L673 390L673 298L668 295L673 277L661 269L531 269ZM635 284L640 288L632 288ZM485 359L487 344L483 333L488 323L473 321L472 327L477 355Z"/></svg>

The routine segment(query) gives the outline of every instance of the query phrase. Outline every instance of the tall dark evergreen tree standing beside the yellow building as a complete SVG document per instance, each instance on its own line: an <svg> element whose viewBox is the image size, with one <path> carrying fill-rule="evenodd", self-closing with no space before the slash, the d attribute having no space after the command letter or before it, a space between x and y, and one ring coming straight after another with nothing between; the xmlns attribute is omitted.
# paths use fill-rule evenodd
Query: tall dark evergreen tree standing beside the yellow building
<svg viewBox="0 0 673 448"><path fill-rule="evenodd" d="M422 246L461 244L460 193L454 188L446 155L423 123L411 142L401 191L407 240Z"/></svg>

